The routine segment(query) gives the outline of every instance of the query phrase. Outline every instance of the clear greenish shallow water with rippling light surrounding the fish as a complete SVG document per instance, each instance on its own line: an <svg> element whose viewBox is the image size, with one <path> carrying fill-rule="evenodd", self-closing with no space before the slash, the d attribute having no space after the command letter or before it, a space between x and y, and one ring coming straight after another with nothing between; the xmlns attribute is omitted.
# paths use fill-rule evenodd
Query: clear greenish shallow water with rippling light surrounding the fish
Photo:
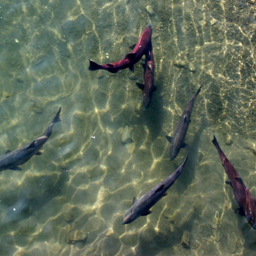
<svg viewBox="0 0 256 256"><path fill-rule="evenodd" d="M237 204L211 143L215 134L256 196L255 5L189 0L0 6L1 154L42 134L62 107L44 153L20 166L21 172L0 173L0 255L255 255L255 230L234 213ZM157 91L143 111L135 85L143 82L141 63L134 74L110 74L89 72L87 59L123 58L148 23ZM185 150L170 162L165 135L200 84L186 168L152 214L120 225L132 198L181 163ZM132 143L124 145L126 125Z"/></svg>

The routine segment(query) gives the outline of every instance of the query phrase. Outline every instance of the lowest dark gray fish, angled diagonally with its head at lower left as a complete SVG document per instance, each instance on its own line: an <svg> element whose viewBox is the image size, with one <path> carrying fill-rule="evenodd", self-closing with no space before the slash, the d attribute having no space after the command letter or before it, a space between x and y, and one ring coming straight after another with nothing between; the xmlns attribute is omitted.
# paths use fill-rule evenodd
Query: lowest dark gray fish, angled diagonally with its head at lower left
<svg viewBox="0 0 256 256"><path fill-rule="evenodd" d="M132 207L124 214L122 224L129 224L140 216L147 216L151 213L149 209L156 204L163 196L166 196L166 191L175 180L178 179L183 170L184 164L188 159L188 155L180 166L168 178L157 184L154 188L150 189L140 199L133 198Z"/></svg>

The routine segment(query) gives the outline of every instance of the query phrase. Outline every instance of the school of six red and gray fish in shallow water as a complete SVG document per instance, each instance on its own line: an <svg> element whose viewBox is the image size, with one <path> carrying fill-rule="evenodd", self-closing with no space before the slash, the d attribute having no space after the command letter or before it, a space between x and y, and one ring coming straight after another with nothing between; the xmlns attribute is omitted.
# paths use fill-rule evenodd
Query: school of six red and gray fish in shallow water
<svg viewBox="0 0 256 256"><path fill-rule="evenodd" d="M112 63L99 65L95 61L89 59L89 70L106 70L111 73L116 73L119 70L124 70L125 68L129 68L132 72L134 71L134 65L138 63L138 61L145 56L145 63L143 65L144 73L143 80L144 83L136 83L137 86L143 90L142 94L142 108L144 111L150 107L150 103L152 102L153 92L156 90L156 86L154 86L154 72L155 72L155 63L154 63L154 53L153 53L153 45L152 45L152 26L149 24L147 28L145 28L141 36L132 47L132 51L128 52L122 60L118 60ZM172 136L167 136L167 140L170 142L169 149L169 157L170 160L173 161L175 157L180 152L181 148L189 148L189 146L185 143L186 134L189 129L189 124L191 122L191 113L193 111L193 106L195 104L196 97L200 93L203 84L198 86L197 90L195 90L195 94L192 95L191 99L188 100L182 115L179 117L179 121L175 127L175 130L172 131ZM61 108L58 109L56 116L53 118L52 122L47 126L45 132L36 138L35 140L28 143L24 147L17 148L13 151L7 150L5 154L0 156L0 171L4 170L16 170L21 171L20 165L25 164L31 157L34 155L40 155L40 149L43 147L45 142L49 139L52 133L52 128L54 124L60 122L60 112ZM225 172L227 173L230 184L234 191L234 197L236 199L237 204L239 205L239 214L243 215L248 223L252 225L253 228L256 229L256 200L250 193L250 190L245 186L243 179L240 177L237 170L230 163L228 158L225 156L223 151L220 148L220 145L214 136L212 143L216 147L218 155L221 159L221 164L225 168ZM166 191L172 186L172 184L180 177L182 170L186 164L186 161L189 157L188 152L186 153L186 157L184 157L184 161L180 166L171 173L166 179L156 184L154 188L150 189L147 193L140 196L137 200L135 197L133 198L133 202L131 207L124 213L122 218L122 224L129 224L132 221L136 220L140 216L147 216L151 213L150 209L164 196L166 196ZM184 195L180 195L184 196ZM166 198L165 200L168 200Z"/></svg>

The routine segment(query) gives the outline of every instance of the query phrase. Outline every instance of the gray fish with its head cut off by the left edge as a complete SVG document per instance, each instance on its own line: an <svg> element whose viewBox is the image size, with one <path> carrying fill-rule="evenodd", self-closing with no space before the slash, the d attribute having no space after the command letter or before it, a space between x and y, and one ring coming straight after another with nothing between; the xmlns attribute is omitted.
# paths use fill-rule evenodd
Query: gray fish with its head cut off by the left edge
<svg viewBox="0 0 256 256"><path fill-rule="evenodd" d="M26 163L32 156L42 154L39 150L43 147L44 143L48 140L52 133L52 127L55 123L60 122L60 111L58 110L56 116L52 120L51 124L48 125L45 132L28 145L18 148L12 152L8 150L6 154L0 156L0 171L3 170L21 170L20 164Z"/></svg>

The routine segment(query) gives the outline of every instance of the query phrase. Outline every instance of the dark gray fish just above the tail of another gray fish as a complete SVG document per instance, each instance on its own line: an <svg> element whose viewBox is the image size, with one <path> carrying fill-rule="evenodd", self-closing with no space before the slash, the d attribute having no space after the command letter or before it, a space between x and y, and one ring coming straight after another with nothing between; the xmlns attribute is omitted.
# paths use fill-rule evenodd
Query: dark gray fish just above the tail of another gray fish
<svg viewBox="0 0 256 256"><path fill-rule="evenodd" d="M193 110L196 96L198 95L198 93L200 93L201 88L202 88L202 85L197 90L195 95L193 95L193 97L187 103L186 108L184 109L182 115L180 116L179 122L173 134L173 137L166 136L166 139L171 143L171 146L169 149L169 156L171 160L175 159L175 157L180 151L180 148L184 148L187 146L186 143L184 143L184 139L188 131L190 116Z"/></svg>

